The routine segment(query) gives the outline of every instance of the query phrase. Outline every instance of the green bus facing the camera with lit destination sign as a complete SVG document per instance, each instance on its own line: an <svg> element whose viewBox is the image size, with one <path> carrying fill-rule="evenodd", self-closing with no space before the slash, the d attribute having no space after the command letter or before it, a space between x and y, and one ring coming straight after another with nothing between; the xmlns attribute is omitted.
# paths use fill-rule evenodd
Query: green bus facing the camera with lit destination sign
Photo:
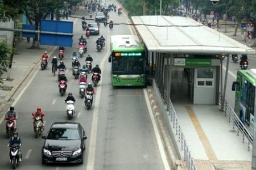
<svg viewBox="0 0 256 170"><path fill-rule="evenodd" d="M135 35L110 37L113 86L145 86L145 49Z"/></svg>

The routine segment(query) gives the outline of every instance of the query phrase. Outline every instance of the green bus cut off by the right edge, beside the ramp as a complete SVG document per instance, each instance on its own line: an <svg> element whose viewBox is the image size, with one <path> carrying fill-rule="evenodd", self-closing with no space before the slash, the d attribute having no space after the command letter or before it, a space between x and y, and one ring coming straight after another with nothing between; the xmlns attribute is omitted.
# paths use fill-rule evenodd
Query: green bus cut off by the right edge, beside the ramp
<svg viewBox="0 0 256 170"><path fill-rule="evenodd" d="M254 128L255 78L256 69L238 70L237 81L232 84L232 91L236 91L234 111L251 134Z"/></svg>

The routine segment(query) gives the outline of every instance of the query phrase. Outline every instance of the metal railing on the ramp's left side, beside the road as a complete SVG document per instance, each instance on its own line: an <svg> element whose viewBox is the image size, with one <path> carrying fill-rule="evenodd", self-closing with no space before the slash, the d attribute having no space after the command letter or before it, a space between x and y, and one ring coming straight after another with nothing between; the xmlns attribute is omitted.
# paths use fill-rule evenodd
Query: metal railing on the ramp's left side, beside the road
<svg viewBox="0 0 256 170"><path fill-rule="evenodd" d="M175 130L176 137L180 143L181 150L184 154L184 160L186 162L186 166L189 170L197 170L195 160L192 157L191 151L189 151L187 141L185 140L184 133L181 130L180 122L177 118L177 114L174 109L174 105L172 105L172 101L168 96L166 90L164 90L164 100L167 99L167 110L170 113L172 128Z"/></svg>

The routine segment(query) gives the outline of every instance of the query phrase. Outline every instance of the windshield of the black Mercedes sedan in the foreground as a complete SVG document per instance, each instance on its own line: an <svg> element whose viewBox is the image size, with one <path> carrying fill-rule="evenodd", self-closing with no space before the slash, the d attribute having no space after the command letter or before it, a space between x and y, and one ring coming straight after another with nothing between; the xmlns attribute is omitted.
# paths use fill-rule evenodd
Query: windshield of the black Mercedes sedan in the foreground
<svg viewBox="0 0 256 170"><path fill-rule="evenodd" d="M52 128L46 139L51 140L79 140L80 135L77 129Z"/></svg>

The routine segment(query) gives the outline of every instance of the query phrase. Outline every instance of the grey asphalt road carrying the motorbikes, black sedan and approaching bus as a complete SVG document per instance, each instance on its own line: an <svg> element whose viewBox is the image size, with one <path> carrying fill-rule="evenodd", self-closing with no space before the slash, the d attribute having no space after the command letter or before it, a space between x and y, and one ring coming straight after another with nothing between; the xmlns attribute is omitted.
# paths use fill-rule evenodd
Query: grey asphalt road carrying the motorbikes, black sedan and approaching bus
<svg viewBox="0 0 256 170"><path fill-rule="evenodd" d="M113 1L112 1L113 2ZM82 12L89 18L88 11ZM80 16L81 17L81 16ZM110 12L110 19L114 23L126 23L125 15L118 16ZM148 105L144 97L143 88L113 88L110 79L110 35L131 34L127 25L114 26L110 30L101 25L100 35L104 35L106 46L101 52L96 50L98 36L91 36L88 40L88 53L94 59L93 65L99 64L102 69L102 81L96 88L93 107L87 111L83 99L79 96L78 80L72 76L71 54L73 50L78 53L77 44L81 35L85 32L81 28L81 20L74 22L73 47L66 48L64 63L67 66L68 92L72 92L76 98L76 114L71 121L80 122L84 127L88 139L84 153L83 165L51 164L42 165L41 148L44 139L35 138L32 127L31 113L37 107L42 107L46 115L46 126L43 134L53 122L67 121L65 114L66 105L58 90L57 77L51 74L51 66L44 71L38 69L30 82L25 87L18 99L15 100L15 110L19 114L17 128L19 137L23 141L21 148L23 160L17 169L166 169L163 151L159 150L159 134L155 132L154 120L150 117ZM86 54L86 56L87 56ZM57 56L56 49L51 57ZM81 64L85 57L79 58ZM90 78L90 75L88 76ZM150 108L151 109L151 108ZM0 169L11 169L8 151L5 147L8 138L5 134L5 121L0 125L0 144L2 146Z"/></svg>

